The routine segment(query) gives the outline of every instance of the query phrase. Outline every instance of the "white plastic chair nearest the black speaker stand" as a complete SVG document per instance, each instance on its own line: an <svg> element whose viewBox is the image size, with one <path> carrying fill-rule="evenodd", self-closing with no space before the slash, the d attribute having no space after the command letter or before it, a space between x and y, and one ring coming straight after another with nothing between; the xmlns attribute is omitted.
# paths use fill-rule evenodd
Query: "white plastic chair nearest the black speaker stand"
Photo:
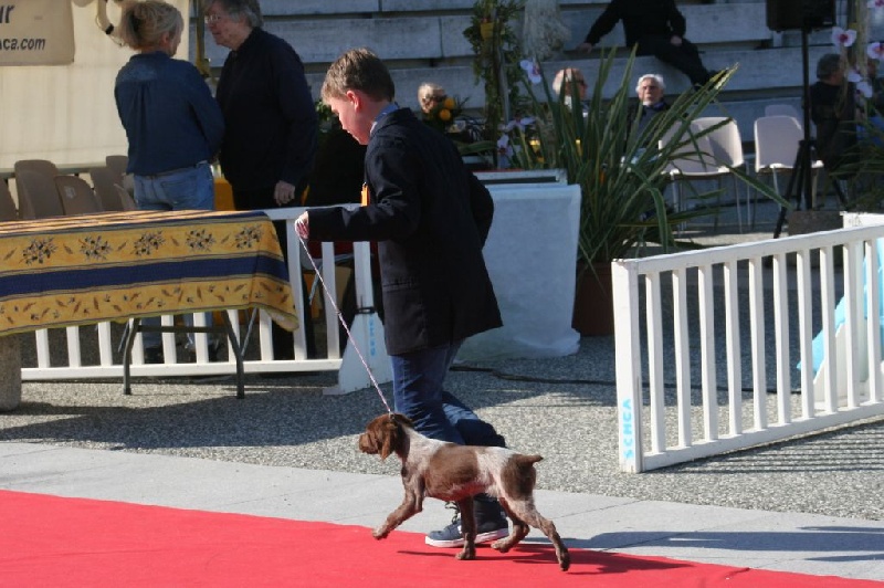
<svg viewBox="0 0 884 588"><path fill-rule="evenodd" d="M774 190L780 193L778 176L780 171L791 172L794 168L798 148L804 138L801 124L789 115L762 116L755 120L755 172L757 176L770 174ZM812 160L812 189L817 191L817 177L823 168L822 161ZM749 202L749 219L755 225L755 203Z"/></svg>

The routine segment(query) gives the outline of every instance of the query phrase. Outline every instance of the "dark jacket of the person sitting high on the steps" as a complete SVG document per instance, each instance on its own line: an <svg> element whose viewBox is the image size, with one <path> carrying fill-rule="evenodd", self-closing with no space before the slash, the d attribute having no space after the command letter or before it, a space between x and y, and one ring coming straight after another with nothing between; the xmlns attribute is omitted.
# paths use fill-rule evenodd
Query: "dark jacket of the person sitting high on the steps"
<svg viewBox="0 0 884 588"><path fill-rule="evenodd" d="M601 38L611 32L618 21L623 21L627 46L632 46L643 36L677 34L684 38L687 24L678 12L674 0L612 0L596 20L586 42L599 44Z"/></svg>

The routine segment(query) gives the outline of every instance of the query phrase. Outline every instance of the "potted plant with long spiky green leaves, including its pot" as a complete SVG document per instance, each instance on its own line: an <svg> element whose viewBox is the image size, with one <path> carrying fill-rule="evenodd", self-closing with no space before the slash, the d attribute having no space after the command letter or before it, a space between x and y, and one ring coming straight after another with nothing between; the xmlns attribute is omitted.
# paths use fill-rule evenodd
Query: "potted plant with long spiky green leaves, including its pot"
<svg viewBox="0 0 884 588"><path fill-rule="evenodd" d="M639 255L641 248L649 242L659 245L663 252L691 246L691 243L676 242L673 228L697 216L716 212L714 207L690 211L669 208L664 195L669 182L666 169L671 160L696 154L696 139L720 126L693 135L691 132L691 122L715 101L734 72L725 71L705 86L682 94L667 111L657 114L651 124L636 132L638 111L630 107L634 92L634 53L629 57L613 95L604 97L603 90L614 60L615 50L600 60L591 98L583 112L580 107L569 106L580 104L576 85L569 88L570 96L566 92L555 96L543 71L536 65L526 67L528 99L524 108L532 124L515 125L509 137L509 155L516 166L526 169L561 168L567 171L570 183L580 185L575 328L585 335L613 332L610 301L610 265L613 260ZM545 101L538 99L534 93L535 85L540 83ZM758 180L740 170L733 171L759 192L788 206ZM693 198L716 195L694 193ZM590 291L587 308L581 295ZM600 304L599 296L607 302ZM586 316L601 321L597 324L585 322Z"/></svg>

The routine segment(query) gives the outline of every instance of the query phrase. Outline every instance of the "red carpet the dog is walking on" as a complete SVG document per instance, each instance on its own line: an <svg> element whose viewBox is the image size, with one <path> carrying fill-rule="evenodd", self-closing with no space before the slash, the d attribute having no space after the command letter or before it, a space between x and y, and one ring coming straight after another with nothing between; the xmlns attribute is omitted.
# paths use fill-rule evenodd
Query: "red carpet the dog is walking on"
<svg viewBox="0 0 884 588"><path fill-rule="evenodd" d="M567 542L567 539L566 539ZM592 586L880 587L654 557L571 549L558 569L547 545L475 561L393 532L0 491L0 586Z"/></svg>

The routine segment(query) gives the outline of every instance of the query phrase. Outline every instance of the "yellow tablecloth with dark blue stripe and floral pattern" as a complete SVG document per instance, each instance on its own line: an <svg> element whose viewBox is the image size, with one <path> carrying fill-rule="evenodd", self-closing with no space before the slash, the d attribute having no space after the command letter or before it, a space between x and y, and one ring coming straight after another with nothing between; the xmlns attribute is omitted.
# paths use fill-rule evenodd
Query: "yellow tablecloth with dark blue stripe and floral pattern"
<svg viewBox="0 0 884 588"><path fill-rule="evenodd" d="M262 212L129 211L0 223L0 335L259 307L297 328Z"/></svg>

